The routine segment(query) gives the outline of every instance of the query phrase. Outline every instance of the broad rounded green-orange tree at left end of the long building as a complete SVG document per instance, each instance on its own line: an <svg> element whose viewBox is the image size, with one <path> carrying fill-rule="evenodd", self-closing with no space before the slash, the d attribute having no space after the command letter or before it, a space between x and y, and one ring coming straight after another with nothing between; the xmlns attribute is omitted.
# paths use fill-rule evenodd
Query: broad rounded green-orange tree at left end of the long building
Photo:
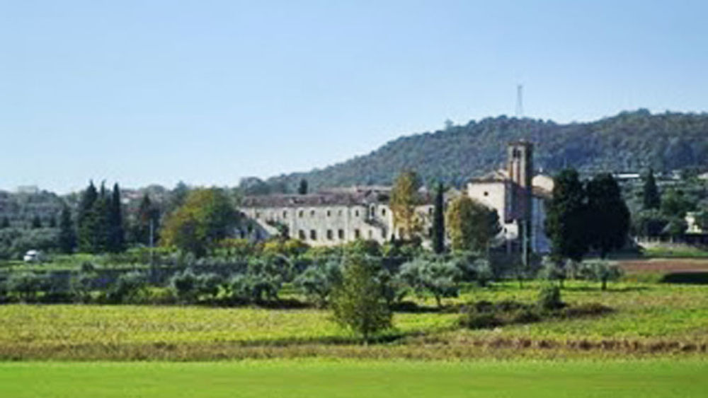
<svg viewBox="0 0 708 398"><path fill-rule="evenodd" d="M222 189L194 189L185 203L167 216L161 244L202 257L229 237L237 222L236 209Z"/></svg>

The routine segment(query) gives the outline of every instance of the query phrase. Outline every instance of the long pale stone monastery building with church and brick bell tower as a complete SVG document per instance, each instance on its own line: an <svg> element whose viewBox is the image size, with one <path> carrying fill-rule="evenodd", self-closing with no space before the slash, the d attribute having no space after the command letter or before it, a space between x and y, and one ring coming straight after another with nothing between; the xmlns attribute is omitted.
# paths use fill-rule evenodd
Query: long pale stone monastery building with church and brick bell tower
<svg viewBox="0 0 708 398"><path fill-rule="evenodd" d="M521 250L522 230L528 228L530 250L544 253L550 248L543 228L544 201L550 198L553 180L532 175L532 153L530 143L509 144L506 168L470 180L466 191L459 194L467 194L497 211L502 226L498 240L504 242L507 250ZM448 192L445 201L456 194ZM379 243L399 239L403 232L394 226L390 195L391 187L351 187L316 194L246 197L240 211L251 220L253 228L242 234L261 240L285 230L290 238L311 246L341 245L357 239ZM423 242L429 245L433 201L427 192L420 192L420 199L417 218Z"/></svg>

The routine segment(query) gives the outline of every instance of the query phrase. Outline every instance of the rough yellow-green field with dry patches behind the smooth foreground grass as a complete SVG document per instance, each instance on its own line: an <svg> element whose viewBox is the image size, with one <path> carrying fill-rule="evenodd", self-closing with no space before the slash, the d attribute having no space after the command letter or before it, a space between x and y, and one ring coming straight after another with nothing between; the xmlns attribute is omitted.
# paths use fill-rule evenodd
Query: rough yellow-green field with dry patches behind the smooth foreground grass
<svg viewBox="0 0 708 398"><path fill-rule="evenodd" d="M532 302L538 283L496 283L466 300ZM496 329L456 327L454 312L396 313L384 344L360 346L326 310L130 305L2 305L0 359L179 360L326 356L469 358L624 356L708 351L708 286L566 282L569 303L602 303L602 317ZM433 299L420 303L433 305ZM581 347L581 349L578 349ZM568 351L577 351L569 353ZM587 351L587 352L586 352Z"/></svg>

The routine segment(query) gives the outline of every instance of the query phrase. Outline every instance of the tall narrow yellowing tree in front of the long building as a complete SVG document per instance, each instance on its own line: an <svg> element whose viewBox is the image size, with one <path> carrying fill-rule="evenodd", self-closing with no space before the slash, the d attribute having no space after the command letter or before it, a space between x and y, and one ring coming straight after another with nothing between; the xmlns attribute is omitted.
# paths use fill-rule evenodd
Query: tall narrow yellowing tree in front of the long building
<svg viewBox="0 0 708 398"><path fill-rule="evenodd" d="M413 170L404 170L396 177L391 190L391 211L394 228L399 229L399 238L412 240L421 231L421 220L416 214L418 188L421 181Z"/></svg>

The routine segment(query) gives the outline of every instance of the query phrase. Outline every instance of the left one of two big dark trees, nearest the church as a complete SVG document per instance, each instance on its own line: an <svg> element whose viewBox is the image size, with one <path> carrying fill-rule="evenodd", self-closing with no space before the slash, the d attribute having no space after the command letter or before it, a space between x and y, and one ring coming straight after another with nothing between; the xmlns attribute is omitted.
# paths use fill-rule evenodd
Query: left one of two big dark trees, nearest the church
<svg viewBox="0 0 708 398"><path fill-rule="evenodd" d="M546 202L546 235L552 256L580 261L588 252L586 193L578 172L562 170L555 178L553 198Z"/></svg>

